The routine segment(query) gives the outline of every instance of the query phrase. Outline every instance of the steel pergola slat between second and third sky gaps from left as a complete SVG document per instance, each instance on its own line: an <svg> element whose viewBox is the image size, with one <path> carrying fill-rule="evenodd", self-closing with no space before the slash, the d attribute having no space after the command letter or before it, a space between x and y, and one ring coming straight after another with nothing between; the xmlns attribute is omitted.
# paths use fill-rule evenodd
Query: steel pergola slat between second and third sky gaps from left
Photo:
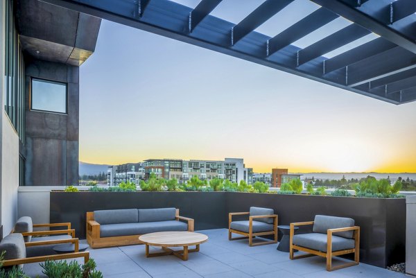
<svg viewBox="0 0 416 278"><path fill-rule="evenodd" d="M293 1L294 0L266 0L263 2L256 10L232 28L232 45L239 42L239 40L248 35L248 33L254 31L257 27L268 21L270 17L276 15L277 12Z"/></svg>

